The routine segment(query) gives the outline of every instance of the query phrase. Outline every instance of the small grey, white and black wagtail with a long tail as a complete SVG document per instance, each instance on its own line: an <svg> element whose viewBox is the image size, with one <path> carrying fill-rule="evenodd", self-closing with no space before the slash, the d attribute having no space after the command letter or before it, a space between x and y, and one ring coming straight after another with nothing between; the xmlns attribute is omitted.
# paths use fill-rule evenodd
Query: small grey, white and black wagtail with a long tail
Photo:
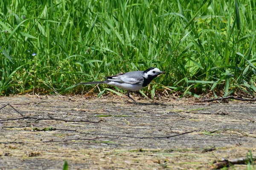
<svg viewBox="0 0 256 170"><path fill-rule="evenodd" d="M128 91L127 96L138 104L138 102L131 98L130 91L138 91L145 88L155 77L163 73L165 72L160 71L158 68L152 67L145 71L131 71L128 73L105 77L106 80L101 82L80 82L76 85L108 84L118 88L123 88Z"/></svg>

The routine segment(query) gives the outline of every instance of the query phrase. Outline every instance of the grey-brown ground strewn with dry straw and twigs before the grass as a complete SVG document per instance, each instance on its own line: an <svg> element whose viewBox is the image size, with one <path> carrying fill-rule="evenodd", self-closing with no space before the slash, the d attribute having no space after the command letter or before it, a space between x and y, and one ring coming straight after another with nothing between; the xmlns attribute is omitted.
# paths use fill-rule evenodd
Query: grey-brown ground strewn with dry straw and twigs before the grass
<svg viewBox="0 0 256 170"><path fill-rule="evenodd" d="M64 160L70 170L209 169L256 156L254 102L135 99L143 105L119 96L0 97L0 108L13 107L0 109L0 170L62 169Z"/></svg>

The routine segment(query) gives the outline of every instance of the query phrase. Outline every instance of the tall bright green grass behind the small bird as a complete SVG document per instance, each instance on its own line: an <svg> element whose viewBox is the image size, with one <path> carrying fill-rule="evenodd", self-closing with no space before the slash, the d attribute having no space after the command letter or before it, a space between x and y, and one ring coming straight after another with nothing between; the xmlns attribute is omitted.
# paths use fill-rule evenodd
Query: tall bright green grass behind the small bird
<svg viewBox="0 0 256 170"><path fill-rule="evenodd" d="M0 95L89 91L73 85L153 66L167 74L151 98L253 95L255 20L253 0L2 0Z"/></svg>

